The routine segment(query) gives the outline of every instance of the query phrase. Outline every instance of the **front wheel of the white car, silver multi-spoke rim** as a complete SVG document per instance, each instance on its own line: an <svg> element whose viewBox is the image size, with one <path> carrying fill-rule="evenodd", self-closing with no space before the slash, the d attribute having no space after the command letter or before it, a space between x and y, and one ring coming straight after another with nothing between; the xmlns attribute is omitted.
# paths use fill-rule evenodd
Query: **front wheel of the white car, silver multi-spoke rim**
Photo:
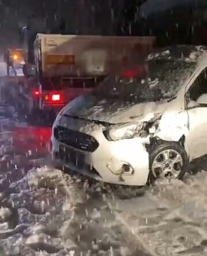
<svg viewBox="0 0 207 256"><path fill-rule="evenodd" d="M150 152L148 184L158 178L183 179L187 166L187 154L179 143L166 142L156 145Z"/></svg>

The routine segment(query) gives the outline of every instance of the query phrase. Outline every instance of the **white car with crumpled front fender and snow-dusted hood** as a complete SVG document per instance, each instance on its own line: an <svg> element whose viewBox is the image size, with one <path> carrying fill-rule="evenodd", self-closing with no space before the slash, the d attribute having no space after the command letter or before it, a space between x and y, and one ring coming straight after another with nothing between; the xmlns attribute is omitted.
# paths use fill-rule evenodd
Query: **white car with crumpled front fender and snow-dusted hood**
<svg viewBox="0 0 207 256"><path fill-rule="evenodd" d="M124 185L182 179L207 154L206 48L149 55L70 102L52 130L52 157L71 170Z"/></svg>

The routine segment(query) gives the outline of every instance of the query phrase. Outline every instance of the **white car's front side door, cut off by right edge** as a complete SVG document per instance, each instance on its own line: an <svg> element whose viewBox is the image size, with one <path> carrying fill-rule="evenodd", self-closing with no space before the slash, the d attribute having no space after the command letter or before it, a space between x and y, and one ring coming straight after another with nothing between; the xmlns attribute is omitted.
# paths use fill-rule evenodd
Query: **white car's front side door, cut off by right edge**
<svg viewBox="0 0 207 256"><path fill-rule="evenodd" d="M189 117L186 140L192 160L207 154L207 68L187 90L185 100Z"/></svg>

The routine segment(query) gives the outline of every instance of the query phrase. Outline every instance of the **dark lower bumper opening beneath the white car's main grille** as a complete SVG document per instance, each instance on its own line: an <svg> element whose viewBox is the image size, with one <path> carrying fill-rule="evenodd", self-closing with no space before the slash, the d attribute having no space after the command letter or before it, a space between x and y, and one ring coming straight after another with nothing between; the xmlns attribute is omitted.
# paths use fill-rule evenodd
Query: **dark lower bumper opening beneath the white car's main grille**
<svg viewBox="0 0 207 256"><path fill-rule="evenodd" d="M79 169L84 169L89 173L93 173L94 175L99 175L97 170L92 165L89 165L85 162L85 154L72 150L72 148L68 148L66 146L60 145L59 146L59 154L57 156L66 164L73 165L78 167Z"/></svg>

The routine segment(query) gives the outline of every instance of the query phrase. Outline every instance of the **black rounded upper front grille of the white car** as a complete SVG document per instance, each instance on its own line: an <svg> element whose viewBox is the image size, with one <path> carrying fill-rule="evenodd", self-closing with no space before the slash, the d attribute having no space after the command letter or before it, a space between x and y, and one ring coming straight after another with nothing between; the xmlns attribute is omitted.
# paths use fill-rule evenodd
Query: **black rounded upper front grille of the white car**
<svg viewBox="0 0 207 256"><path fill-rule="evenodd" d="M86 152L94 152L99 146L94 137L65 127L57 126L54 129L54 137L67 146Z"/></svg>

